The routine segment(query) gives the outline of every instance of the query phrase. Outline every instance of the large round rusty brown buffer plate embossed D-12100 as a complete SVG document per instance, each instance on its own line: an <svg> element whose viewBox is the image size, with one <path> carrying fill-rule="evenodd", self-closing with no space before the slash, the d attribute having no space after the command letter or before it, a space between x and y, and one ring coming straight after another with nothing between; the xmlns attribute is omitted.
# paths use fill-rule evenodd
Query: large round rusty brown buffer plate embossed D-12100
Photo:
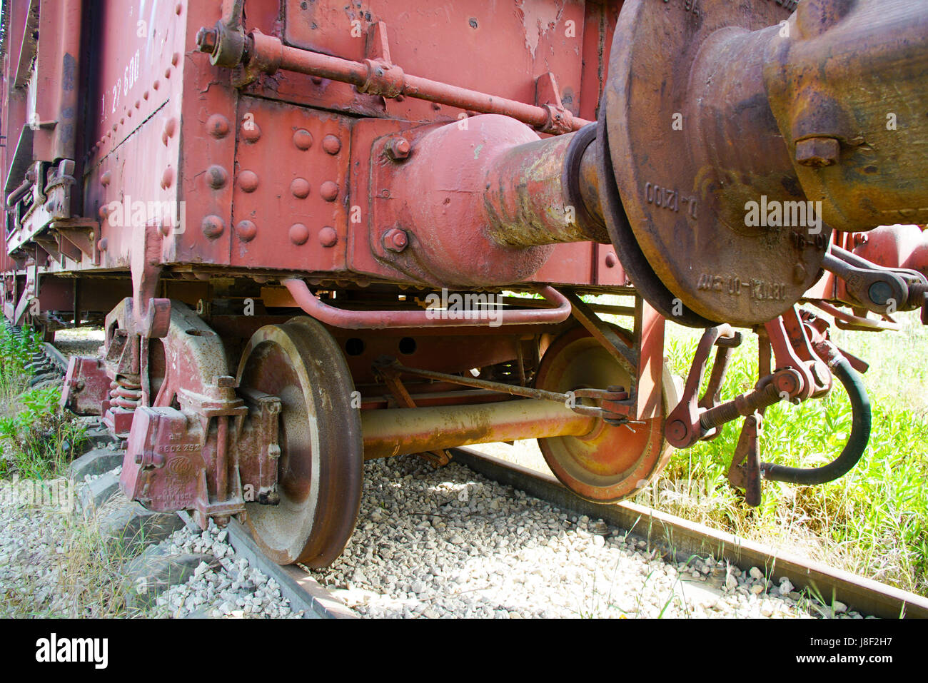
<svg viewBox="0 0 928 683"><path fill-rule="evenodd" d="M762 53L743 45L744 32L720 31L788 17L775 3L634 0L616 27L603 102L625 212L657 277L709 320L767 321L818 279L825 242L797 249L794 235L806 236L806 226L746 225L749 200L806 198L776 120L756 97Z"/></svg>

